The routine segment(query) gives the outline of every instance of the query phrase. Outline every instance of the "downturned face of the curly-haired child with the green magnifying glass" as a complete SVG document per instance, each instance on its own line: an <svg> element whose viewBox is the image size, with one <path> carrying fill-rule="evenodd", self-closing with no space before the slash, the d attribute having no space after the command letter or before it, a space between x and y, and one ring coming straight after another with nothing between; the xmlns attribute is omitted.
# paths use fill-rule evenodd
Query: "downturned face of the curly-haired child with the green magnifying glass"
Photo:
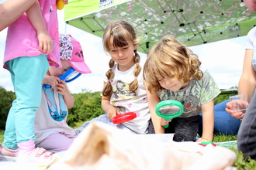
<svg viewBox="0 0 256 170"><path fill-rule="evenodd" d="M185 84L178 80L178 79L172 79L170 77L164 77L157 79L160 86L163 87L164 89L168 89L171 91L178 91L182 88L184 88Z"/></svg>

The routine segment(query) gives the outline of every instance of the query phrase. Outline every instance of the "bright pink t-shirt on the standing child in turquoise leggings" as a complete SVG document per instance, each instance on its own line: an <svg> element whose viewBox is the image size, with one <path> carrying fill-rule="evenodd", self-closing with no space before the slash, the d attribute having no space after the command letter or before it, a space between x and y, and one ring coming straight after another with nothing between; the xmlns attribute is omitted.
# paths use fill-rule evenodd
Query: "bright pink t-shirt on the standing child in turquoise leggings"
<svg viewBox="0 0 256 170"><path fill-rule="evenodd" d="M54 42L54 49L51 53L47 54L47 59L50 66L60 67L61 59L56 0L39 0L39 2L47 30ZM39 56L43 54L38 48L39 43L36 29L32 26L25 12L8 28L5 44L4 68L7 69L5 62L10 59L21 56Z"/></svg>

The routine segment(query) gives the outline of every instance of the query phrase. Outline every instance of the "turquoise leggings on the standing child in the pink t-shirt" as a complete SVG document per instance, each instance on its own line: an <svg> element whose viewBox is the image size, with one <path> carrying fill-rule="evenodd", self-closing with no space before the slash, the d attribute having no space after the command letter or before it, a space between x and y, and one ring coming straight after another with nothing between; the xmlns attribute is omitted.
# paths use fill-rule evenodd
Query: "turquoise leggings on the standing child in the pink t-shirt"
<svg viewBox="0 0 256 170"><path fill-rule="evenodd" d="M4 135L5 148L34 140L34 117L41 102L42 80L49 63L47 56L19 57L6 63L12 75L16 100L12 103ZM15 138L16 137L16 138Z"/></svg>

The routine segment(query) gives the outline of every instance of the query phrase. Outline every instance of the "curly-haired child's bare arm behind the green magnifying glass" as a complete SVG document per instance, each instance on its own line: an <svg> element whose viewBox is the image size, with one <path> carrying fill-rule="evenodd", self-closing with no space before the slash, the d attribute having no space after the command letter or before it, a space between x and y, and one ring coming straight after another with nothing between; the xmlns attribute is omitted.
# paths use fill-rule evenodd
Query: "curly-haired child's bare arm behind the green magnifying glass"
<svg viewBox="0 0 256 170"><path fill-rule="evenodd" d="M145 83L145 87L147 90L147 83ZM157 96L157 92L153 91L152 93L147 90L148 107L150 110L151 120L154 125L154 131L156 134L164 134L164 128L161 126L161 117L159 117L155 112L155 107L160 102L160 100Z"/></svg>

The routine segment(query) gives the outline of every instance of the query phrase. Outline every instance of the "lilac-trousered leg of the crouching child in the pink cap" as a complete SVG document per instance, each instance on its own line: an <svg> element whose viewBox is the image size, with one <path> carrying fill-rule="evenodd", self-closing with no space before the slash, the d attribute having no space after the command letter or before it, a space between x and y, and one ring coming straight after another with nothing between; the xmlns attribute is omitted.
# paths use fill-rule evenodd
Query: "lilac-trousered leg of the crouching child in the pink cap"
<svg viewBox="0 0 256 170"><path fill-rule="evenodd" d="M67 151L74 138L75 136L73 135L54 133L43 139L36 147L45 148L50 152Z"/></svg>

